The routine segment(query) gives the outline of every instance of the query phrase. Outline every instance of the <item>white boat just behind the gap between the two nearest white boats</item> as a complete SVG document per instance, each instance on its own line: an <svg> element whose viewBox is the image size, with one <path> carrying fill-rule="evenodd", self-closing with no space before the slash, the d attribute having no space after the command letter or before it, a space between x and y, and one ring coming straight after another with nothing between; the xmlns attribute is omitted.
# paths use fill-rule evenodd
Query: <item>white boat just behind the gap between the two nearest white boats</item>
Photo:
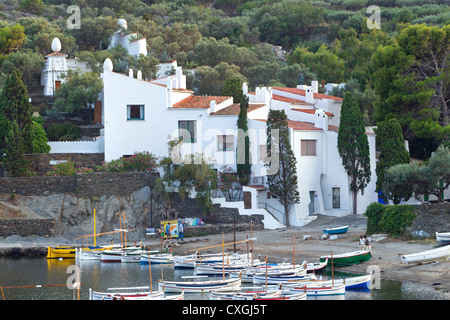
<svg viewBox="0 0 450 320"><path fill-rule="evenodd" d="M222 279L208 281L160 281L159 290L164 292L211 292L217 289L241 287L241 279Z"/></svg>

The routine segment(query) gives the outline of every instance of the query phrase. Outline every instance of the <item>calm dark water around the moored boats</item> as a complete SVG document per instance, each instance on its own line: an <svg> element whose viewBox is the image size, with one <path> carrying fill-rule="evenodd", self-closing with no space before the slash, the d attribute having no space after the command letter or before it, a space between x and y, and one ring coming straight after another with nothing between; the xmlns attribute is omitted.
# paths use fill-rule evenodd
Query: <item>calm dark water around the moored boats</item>
<svg viewBox="0 0 450 320"><path fill-rule="evenodd" d="M0 286L3 287L5 300L74 300L77 292L68 289L74 273L70 266L75 260L56 260L46 258L0 258ZM327 271L328 272L328 271ZM174 270L173 266L151 266L153 290L158 288L158 280L182 280L183 276L192 276L193 270ZM335 273L336 278L346 273ZM81 289L80 299L89 299L89 288L95 291L107 291L108 288L150 286L148 265L140 263L104 263L84 260L80 263ZM324 274L330 277L330 273ZM44 285L43 287L32 287ZM247 285L247 284L245 284ZM251 284L248 284L249 286ZM26 288L18 288L26 286ZM31 287L29 287L31 286ZM17 287L17 288L8 288ZM345 300L432 300L442 299L439 292L423 290L412 283L381 279L381 288L366 291L346 291ZM208 300L209 294L185 294L185 300ZM308 297L310 299L310 297ZM324 299L324 297L317 298ZM333 299L333 297L327 297Z"/></svg>

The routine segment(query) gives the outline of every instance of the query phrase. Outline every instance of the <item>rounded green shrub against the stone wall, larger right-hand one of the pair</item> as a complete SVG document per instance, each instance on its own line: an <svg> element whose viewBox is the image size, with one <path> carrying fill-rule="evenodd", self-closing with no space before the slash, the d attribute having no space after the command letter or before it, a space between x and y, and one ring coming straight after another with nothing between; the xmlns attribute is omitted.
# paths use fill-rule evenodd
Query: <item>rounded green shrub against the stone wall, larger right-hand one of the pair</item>
<svg viewBox="0 0 450 320"><path fill-rule="evenodd" d="M391 236L398 236L403 233L406 227L411 226L415 218L413 206L386 206L379 226L383 232Z"/></svg>

